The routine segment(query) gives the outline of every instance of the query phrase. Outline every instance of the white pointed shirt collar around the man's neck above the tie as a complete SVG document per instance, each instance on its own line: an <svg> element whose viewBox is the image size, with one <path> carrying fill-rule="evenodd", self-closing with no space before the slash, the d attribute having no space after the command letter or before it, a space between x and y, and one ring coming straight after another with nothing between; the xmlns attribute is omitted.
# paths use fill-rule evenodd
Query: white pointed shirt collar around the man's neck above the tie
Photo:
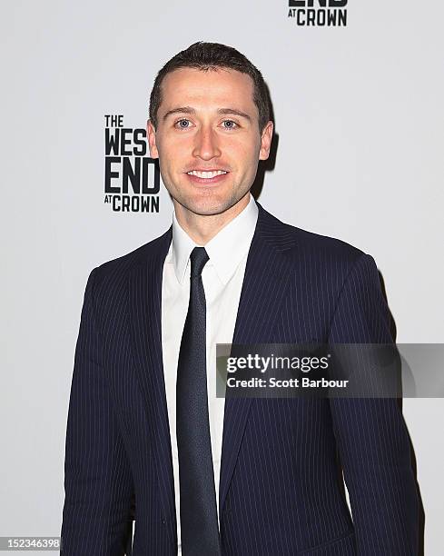
<svg viewBox="0 0 444 556"><path fill-rule="evenodd" d="M222 228L205 249L210 257L208 264L212 263L223 284L228 283L235 273L239 263L248 253L252 243L252 236L258 219L258 207L252 194L247 206L230 223ZM179 283L183 283L190 254L197 243L186 233L177 222L173 213L173 264L174 272Z"/></svg>

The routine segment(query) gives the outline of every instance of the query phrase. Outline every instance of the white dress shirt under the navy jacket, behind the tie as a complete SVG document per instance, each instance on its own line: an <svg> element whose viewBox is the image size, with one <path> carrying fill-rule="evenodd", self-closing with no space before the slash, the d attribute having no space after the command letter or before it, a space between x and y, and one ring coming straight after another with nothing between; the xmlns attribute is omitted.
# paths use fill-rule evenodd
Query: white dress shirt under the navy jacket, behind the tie
<svg viewBox="0 0 444 556"><path fill-rule="evenodd" d="M204 245L210 260L202 271L206 299L206 356L208 412L212 440L212 464L219 519L219 477L221 472L223 410L225 400L216 398L216 343L232 343L241 297L243 276L258 207L250 195L249 204ZM172 439L177 539L181 551L179 460L176 439L176 377L183 326L190 299L190 254L199 247L177 222L173 213L173 241L163 264L162 349L168 420Z"/></svg>

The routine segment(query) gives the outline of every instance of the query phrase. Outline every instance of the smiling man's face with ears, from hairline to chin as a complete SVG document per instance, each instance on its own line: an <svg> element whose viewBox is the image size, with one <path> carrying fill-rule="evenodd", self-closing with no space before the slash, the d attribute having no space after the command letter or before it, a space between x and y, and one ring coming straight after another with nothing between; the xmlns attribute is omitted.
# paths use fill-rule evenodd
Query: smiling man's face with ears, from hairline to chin
<svg viewBox="0 0 444 556"><path fill-rule="evenodd" d="M157 122L155 131L148 123L150 153L176 212L220 214L247 198L272 135L271 122L260 134L249 75L174 70L163 79Z"/></svg>

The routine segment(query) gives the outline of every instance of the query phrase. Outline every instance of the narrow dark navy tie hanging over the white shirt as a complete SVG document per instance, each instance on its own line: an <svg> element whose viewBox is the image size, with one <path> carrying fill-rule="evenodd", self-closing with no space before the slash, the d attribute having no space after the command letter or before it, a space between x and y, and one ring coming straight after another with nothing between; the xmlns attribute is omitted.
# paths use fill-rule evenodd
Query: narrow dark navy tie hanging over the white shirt
<svg viewBox="0 0 444 556"><path fill-rule="evenodd" d="M206 303L203 247L190 255L190 302L177 365L176 433L181 490L183 556L221 554L217 523L206 373Z"/></svg>

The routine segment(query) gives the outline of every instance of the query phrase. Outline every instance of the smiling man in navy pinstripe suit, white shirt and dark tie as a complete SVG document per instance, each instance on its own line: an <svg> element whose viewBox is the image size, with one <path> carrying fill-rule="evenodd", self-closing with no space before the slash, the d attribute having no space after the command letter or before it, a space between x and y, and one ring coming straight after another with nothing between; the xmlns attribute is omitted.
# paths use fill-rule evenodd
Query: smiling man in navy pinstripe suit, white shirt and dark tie
<svg viewBox="0 0 444 556"><path fill-rule="evenodd" d="M64 553L408 555L418 501L393 399L215 397L216 343L390 343L370 255L250 194L261 73L197 43L158 74L148 139L173 226L91 273L76 347ZM350 492L350 511L337 454Z"/></svg>

